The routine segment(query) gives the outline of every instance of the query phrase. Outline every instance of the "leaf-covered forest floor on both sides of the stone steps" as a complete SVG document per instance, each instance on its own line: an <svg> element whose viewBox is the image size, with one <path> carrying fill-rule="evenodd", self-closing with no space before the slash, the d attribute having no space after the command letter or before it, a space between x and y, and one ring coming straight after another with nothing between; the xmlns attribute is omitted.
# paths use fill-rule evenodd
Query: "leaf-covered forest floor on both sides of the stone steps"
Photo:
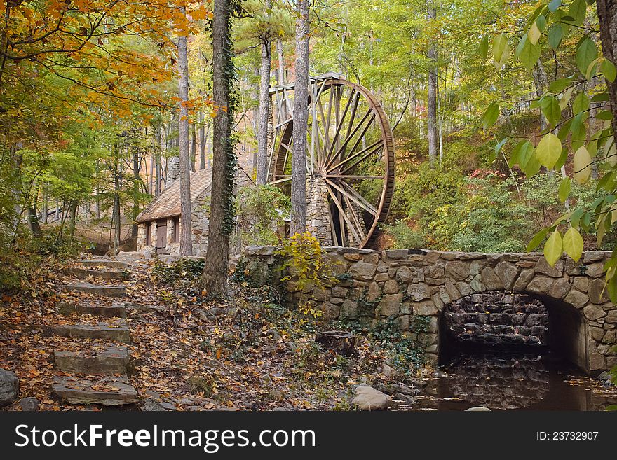
<svg viewBox="0 0 617 460"><path fill-rule="evenodd" d="M53 378L59 375L53 351L84 346L96 351L106 345L53 335L54 326L76 322L57 314L58 302L125 302L133 339L130 381L148 407L348 410L352 386L363 383L398 394L401 403L430 398L421 393L433 370L412 367L410 363L421 357L391 329L358 329L358 353L346 358L315 343L316 330L323 328L319 318L276 305L267 288L250 287L239 279L231 285L233 300L203 300L194 287L201 271L196 261L168 266L133 260L131 277L123 281L128 296L121 300L62 291L62 284L83 281L66 274L71 264L49 260L20 295L5 296L0 304L1 367L15 370L20 398L38 398L40 410L92 410L93 406L69 405L52 396ZM99 321L88 315L79 319ZM13 403L6 409L20 407Z"/></svg>

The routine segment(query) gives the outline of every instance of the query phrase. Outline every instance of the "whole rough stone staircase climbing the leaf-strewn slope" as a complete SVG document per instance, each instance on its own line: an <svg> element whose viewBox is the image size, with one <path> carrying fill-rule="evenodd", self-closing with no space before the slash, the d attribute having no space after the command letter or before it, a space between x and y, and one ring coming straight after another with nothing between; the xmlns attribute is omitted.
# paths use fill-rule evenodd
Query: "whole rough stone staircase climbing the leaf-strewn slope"
<svg viewBox="0 0 617 460"><path fill-rule="evenodd" d="M105 282L128 280L128 265L110 258L83 259L79 264L81 267L70 268L66 273L81 282L66 283L60 287L67 293L85 294L95 300L56 304L58 314L75 318L76 321L55 326L53 334L81 340L83 349L57 349L54 352L53 363L59 375L55 377L52 391L61 400L74 405L122 406L137 403L140 398L127 375L130 356L126 344L130 343L130 330L125 320L126 305L105 305L109 300L126 296L126 286ZM86 279L97 281L93 284L85 282ZM81 315L99 316L101 321L88 323L80 318ZM90 347L90 344L96 345Z"/></svg>

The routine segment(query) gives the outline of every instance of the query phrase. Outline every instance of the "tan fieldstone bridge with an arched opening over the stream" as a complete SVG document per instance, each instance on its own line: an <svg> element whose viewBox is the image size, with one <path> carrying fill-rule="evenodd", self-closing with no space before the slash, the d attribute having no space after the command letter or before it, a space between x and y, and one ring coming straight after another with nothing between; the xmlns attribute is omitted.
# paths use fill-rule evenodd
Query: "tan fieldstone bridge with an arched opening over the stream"
<svg viewBox="0 0 617 460"><path fill-rule="evenodd" d="M326 247L325 253L338 281L330 288L313 289L310 295L326 318L398 321L432 363L445 353L445 316L457 301L480 293L522 293L545 305L552 349L591 374L617 365L617 307L604 290L603 267L609 252L588 251L578 263L562 258L555 267L540 253L340 247ZM247 267L255 281L280 279L275 254L272 246L246 249ZM297 296L293 283L285 287L293 300ZM507 303L499 308L505 311ZM489 322L492 318L485 316ZM419 323L422 328L416 327Z"/></svg>

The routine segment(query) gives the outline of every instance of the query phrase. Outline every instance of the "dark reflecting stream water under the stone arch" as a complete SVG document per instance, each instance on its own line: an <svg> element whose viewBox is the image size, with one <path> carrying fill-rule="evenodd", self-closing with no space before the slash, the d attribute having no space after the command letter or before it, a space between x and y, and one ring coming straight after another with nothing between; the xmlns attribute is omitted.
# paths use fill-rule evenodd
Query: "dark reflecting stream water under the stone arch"
<svg viewBox="0 0 617 460"><path fill-rule="evenodd" d="M605 410L617 405L604 386L550 351L466 351L442 364L442 377L401 410Z"/></svg>

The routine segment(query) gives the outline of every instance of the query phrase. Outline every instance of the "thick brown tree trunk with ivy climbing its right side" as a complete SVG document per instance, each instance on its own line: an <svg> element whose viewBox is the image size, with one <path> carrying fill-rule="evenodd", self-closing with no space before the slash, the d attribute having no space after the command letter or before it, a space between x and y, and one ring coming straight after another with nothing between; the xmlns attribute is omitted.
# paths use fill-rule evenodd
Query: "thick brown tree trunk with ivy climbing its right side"
<svg viewBox="0 0 617 460"><path fill-rule="evenodd" d="M231 62L229 0L214 0L212 19L212 99L217 109L212 120L212 187L208 251L202 284L208 295L223 297L227 287L229 235L233 230L233 176L236 172L231 123L233 109L231 88L235 76ZM231 221L230 221L231 219Z"/></svg>

